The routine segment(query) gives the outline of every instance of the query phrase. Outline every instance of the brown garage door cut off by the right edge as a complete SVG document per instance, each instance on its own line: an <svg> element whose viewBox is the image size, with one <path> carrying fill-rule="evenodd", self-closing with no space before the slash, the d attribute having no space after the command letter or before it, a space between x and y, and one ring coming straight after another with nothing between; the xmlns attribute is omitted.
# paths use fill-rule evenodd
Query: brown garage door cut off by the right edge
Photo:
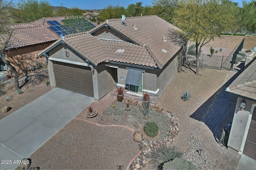
<svg viewBox="0 0 256 170"><path fill-rule="evenodd" d="M252 121L244 145L244 154L256 160L256 107L254 107Z"/></svg>

